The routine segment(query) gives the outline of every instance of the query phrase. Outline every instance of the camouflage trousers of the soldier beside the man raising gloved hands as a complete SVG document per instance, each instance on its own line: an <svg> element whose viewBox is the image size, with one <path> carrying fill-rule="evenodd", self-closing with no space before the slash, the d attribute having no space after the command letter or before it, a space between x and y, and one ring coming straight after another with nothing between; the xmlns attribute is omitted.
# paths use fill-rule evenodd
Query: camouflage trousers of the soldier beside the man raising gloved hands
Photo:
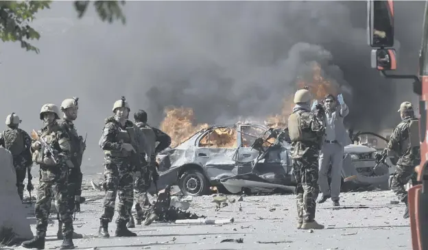
<svg viewBox="0 0 428 250"><path fill-rule="evenodd" d="M318 186L318 158L293 159L293 172L296 178L298 221L311 222L315 219Z"/></svg>

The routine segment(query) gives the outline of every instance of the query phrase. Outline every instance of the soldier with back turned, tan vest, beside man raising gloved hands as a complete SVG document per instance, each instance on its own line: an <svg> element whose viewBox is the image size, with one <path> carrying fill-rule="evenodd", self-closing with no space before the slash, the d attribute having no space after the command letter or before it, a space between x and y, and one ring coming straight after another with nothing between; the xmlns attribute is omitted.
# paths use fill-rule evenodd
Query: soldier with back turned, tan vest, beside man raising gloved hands
<svg viewBox="0 0 428 250"><path fill-rule="evenodd" d="M315 221L318 197L318 155L322 146L325 127L324 110L310 112L311 93L301 89L294 95L293 113L288 118L289 136L292 140L293 172L296 178L298 229L323 229Z"/></svg>

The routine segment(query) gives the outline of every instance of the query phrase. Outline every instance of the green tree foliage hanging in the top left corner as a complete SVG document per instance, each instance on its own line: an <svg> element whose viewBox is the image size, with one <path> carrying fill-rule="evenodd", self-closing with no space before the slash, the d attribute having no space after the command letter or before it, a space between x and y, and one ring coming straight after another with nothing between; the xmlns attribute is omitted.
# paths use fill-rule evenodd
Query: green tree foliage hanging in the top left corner
<svg viewBox="0 0 428 250"><path fill-rule="evenodd" d="M49 9L52 1L0 1L0 38L3 42L20 42L27 51L39 53L39 49L30 44L31 40L38 40L40 34L30 25L39 10ZM93 3L99 18L109 23L120 20L126 23L121 5L125 1L74 1L74 8L78 18L82 18L88 10L89 3Z"/></svg>

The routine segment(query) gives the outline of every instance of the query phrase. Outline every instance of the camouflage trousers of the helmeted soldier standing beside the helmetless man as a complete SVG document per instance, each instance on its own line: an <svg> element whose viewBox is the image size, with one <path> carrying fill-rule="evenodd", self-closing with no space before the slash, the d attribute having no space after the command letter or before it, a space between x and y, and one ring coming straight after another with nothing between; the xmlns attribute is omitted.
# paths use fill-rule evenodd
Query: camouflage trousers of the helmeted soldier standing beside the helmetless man
<svg viewBox="0 0 428 250"><path fill-rule="evenodd" d="M115 215L116 196L119 195L119 218L116 223L128 223L132 208L133 179L130 161L127 158L106 158L104 160L104 183L106 190L102 220L112 221Z"/></svg>

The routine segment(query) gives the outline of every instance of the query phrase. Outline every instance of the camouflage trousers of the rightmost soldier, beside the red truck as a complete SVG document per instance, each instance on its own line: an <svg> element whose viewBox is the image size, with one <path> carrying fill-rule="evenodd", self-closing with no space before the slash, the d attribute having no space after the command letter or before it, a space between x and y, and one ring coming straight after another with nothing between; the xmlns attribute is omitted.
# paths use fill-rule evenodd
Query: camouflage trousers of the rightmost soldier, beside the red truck
<svg viewBox="0 0 428 250"><path fill-rule="evenodd" d="M412 185L418 184L417 173L414 166L396 165L394 176L392 177L391 189L399 198L399 201L407 203L407 191L405 185L412 179Z"/></svg>

